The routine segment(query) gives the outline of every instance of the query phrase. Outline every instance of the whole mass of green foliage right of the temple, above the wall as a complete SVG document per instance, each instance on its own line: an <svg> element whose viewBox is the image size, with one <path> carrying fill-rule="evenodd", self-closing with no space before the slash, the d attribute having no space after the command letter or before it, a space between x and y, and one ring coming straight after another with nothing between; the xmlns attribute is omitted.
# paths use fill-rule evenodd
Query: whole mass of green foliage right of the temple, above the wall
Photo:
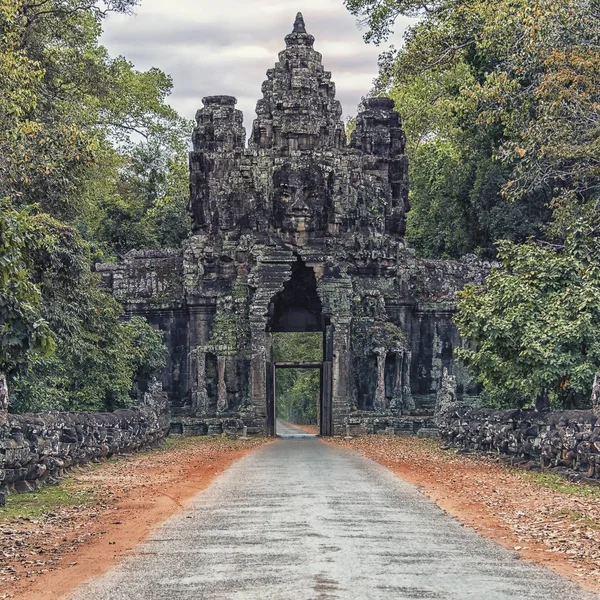
<svg viewBox="0 0 600 600"><path fill-rule="evenodd" d="M390 34L376 92L404 117L408 237L422 254L497 257L462 294L462 358L494 404L589 397L598 354L598 0L346 0Z"/></svg>

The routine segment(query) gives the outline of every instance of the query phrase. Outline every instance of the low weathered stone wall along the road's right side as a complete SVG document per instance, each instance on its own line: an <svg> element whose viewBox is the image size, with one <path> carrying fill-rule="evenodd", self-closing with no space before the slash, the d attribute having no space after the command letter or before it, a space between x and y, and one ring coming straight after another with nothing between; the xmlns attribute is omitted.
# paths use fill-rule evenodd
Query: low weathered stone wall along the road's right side
<svg viewBox="0 0 600 600"><path fill-rule="evenodd" d="M600 477L600 418L591 410L498 411L452 403L438 413L436 423L442 439L463 450Z"/></svg>

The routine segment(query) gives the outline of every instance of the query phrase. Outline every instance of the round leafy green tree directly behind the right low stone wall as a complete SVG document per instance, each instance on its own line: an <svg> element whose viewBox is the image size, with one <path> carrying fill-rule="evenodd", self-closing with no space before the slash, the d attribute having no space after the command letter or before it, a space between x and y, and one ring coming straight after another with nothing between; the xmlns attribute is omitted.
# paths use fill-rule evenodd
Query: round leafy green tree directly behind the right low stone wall
<svg viewBox="0 0 600 600"><path fill-rule="evenodd" d="M600 368L598 226L572 225L563 246L502 242L499 258L460 295L459 357L492 404L585 406Z"/></svg>

